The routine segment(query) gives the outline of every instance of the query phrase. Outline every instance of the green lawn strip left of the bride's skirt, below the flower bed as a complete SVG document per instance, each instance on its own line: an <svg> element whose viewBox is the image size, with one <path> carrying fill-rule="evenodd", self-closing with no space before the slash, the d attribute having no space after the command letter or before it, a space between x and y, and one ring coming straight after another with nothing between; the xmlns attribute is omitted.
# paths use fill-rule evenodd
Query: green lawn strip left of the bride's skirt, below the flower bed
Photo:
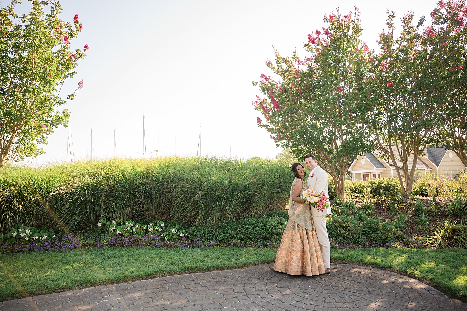
<svg viewBox="0 0 467 311"><path fill-rule="evenodd" d="M274 248L109 247L0 254L0 301L97 284L273 262ZM14 281L12 277L14 277ZM20 287L22 286L22 288Z"/></svg>

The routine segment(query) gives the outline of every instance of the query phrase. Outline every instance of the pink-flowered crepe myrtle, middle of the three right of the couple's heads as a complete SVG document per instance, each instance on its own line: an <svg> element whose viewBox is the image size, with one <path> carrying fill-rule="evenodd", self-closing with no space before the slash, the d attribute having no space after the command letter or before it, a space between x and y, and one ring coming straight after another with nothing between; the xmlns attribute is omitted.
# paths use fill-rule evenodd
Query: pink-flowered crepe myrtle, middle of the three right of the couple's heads
<svg viewBox="0 0 467 311"><path fill-rule="evenodd" d="M453 105L451 92L465 84L461 81L462 57L458 55L461 48L450 46L457 40L453 36L458 35L451 27L459 27L460 32L465 22L462 4L456 3L446 6L440 1L428 27L424 27L425 17L416 25L412 12L404 15L397 38L393 34L396 14L388 11L388 32L380 34L381 53L375 55L374 74L367 79L375 110L372 132L376 148L395 168L407 197L418 157L433 141L448 105ZM410 158L413 162L409 166Z"/></svg>

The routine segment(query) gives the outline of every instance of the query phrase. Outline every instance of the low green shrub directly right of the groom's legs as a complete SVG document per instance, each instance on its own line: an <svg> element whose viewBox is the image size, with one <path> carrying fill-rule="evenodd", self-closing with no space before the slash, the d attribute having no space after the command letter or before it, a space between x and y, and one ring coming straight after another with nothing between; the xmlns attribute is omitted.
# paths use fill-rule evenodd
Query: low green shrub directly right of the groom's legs
<svg viewBox="0 0 467 311"><path fill-rule="evenodd" d="M356 217L333 213L328 216L326 227L329 237L339 243L363 243L360 221Z"/></svg>

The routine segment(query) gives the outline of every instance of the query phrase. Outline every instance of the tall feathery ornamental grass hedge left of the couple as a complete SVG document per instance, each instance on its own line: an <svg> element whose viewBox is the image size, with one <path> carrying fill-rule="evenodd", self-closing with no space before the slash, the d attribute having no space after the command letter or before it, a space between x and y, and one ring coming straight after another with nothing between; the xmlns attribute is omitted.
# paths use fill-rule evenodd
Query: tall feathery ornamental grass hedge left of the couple
<svg viewBox="0 0 467 311"><path fill-rule="evenodd" d="M165 157L0 170L0 229L16 223L59 232L98 220L164 219L212 225L282 208L293 181L274 160Z"/></svg>

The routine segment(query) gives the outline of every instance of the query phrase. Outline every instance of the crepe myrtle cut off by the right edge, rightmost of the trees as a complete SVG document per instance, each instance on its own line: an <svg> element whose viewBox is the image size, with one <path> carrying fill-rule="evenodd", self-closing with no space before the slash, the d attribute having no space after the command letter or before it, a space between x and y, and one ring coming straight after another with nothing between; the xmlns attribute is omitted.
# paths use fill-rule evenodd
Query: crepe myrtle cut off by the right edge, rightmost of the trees
<svg viewBox="0 0 467 311"><path fill-rule="evenodd" d="M467 167L467 6L465 1L439 1L430 14L432 28L425 28L436 51L436 93L443 105L436 119L439 131L433 141L452 149Z"/></svg>

